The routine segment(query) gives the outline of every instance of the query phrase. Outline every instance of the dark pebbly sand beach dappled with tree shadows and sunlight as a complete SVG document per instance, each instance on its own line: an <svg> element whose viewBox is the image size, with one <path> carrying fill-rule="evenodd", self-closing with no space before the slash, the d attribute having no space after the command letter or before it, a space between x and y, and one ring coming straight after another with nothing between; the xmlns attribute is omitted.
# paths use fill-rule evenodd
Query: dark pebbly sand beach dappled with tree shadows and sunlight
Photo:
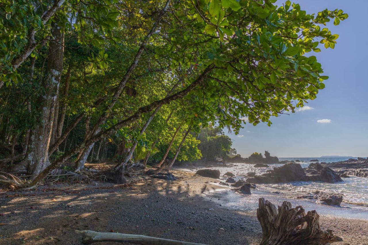
<svg viewBox="0 0 368 245"><path fill-rule="evenodd" d="M229 207L226 200L222 204L222 193L231 191L217 185L219 180L172 172L178 180L142 177L133 185L54 184L1 192L0 244L80 244L74 230L203 244L259 243L262 229L255 209ZM335 244L367 244L367 220L322 214L320 223L343 238Z"/></svg>

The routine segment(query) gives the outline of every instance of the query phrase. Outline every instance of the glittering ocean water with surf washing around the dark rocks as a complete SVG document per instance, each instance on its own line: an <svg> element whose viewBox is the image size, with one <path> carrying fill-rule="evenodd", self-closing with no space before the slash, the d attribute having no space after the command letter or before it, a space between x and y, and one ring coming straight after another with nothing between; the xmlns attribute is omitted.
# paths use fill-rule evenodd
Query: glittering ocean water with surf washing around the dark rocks
<svg viewBox="0 0 368 245"><path fill-rule="evenodd" d="M349 158L356 157L280 157L279 160L300 160L299 164L304 168L308 167L310 163L309 160L318 159L319 162L336 162L344 161ZM271 170L273 167L282 166L282 164L268 164L267 168L255 168L254 164L246 163L234 163L237 166L234 167L212 167L212 169L217 169L220 171L221 176L226 172L231 172L235 174L235 179L244 178L248 172L255 172L256 174L265 173L267 170ZM191 169L190 171L197 171L198 168ZM224 181L226 178L223 178ZM313 181L296 181L290 183L281 184L257 184L257 188L252 190L252 195L239 195L233 192L226 192L220 190L221 192L226 192L227 203L222 203L222 205L228 206L229 208L237 209L256 209L259 197L267 197L274 202L282 202L282 200L289 200L292 205L303 205L306 210L316 209L319 213L336 215L340 217L350 217L356 219L368 220L368 178L362 177L350 177L342 178L343 182L336 184L329 184L323 182L313 182ZM343 202L340 207L330 207L321 204L316 204L311 200L294 199L294 197L299 195L304 195L307 192L313 192L315 190L324 192L335 192L341 193L343 195ZM275 194L273 192L278 191L282 194ZM215 194L215 193L214 193ZM254 195L253 195L254 194ZM215 194L216 195L216 194ZM287 198L287 199L285 199ZM222 200L224 201L224 200Z"/></svg>

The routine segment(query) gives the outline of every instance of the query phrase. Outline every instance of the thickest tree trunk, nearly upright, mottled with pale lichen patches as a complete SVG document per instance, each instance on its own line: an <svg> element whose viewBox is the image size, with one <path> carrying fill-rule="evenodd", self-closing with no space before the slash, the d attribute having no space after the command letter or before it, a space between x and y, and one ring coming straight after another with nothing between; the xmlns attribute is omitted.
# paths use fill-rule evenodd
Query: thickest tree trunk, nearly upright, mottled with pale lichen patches
<svg viewBox="0 0 368 245"><path fill-rule="evenodd" d="M40 122L31 131L24 159L29 174L39 174L49 165L49 144L64 56L64 33L57 21L52 23L51 33L53 40L49 44L46 74L42 82L45 92L37 101L38 105L42 105Z"/></svg>

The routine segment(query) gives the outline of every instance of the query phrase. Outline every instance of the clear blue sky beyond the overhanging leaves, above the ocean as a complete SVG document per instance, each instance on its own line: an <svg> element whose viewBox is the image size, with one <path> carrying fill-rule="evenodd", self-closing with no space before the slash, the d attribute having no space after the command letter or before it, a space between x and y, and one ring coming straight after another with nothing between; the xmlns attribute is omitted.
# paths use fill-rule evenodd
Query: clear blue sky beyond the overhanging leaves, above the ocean
<svg viewBox="0 0 368 245"><path fill-rule="evenodd" d="M284 3L277 1L277 5ZM272 125L246 124L228 134L243 157L268 150L278 157L368 156L368 0L294 0L307 13L342 9L349 18L328 28L339 34L335 49L315 53L329 79L310 110L272 118ZM322 120L322 121L318 121ZM330 120L330 122L329 122ZM225 129L226 130L226 129Z"/></svg>

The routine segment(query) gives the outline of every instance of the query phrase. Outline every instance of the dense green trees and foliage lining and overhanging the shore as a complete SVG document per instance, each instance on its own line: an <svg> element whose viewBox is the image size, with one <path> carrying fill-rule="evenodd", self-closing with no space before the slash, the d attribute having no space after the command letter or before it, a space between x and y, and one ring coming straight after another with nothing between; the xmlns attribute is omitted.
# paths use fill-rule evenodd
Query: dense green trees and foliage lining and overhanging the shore
<svg viewBox="0 0 368 245"><path fill-rule="evenodd" d="M223 157L231 140L198 138L200 128L237 134L245 117L271 125L328 78L306 53L333 48L338 35L323 25L347 14L274 3L0 0L0 140L10 154L1 161L38 175L34 185L67 160L81 170L88 156L115 157L119 171Z"/></svg>

